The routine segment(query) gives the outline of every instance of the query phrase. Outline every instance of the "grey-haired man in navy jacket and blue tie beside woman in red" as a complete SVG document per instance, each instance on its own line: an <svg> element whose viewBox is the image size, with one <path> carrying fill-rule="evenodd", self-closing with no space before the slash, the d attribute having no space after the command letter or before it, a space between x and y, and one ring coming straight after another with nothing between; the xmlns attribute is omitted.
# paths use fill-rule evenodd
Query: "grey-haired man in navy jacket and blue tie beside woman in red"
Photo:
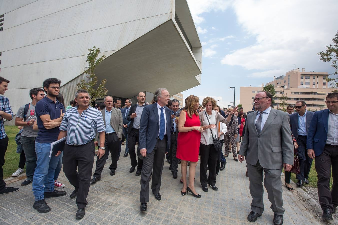
<svg viewBox="0 0 338 225"><path fill-rule="evenodd" d="M161 200L161 176L166 148L170 147L171 111L166 105L169 92L159 88L154 93L151 105L144 107L140 125L140 149L143 157L141 171L140 210L147 210L149 202L149 181L152 171L151 190L156 200Z"/></svg>

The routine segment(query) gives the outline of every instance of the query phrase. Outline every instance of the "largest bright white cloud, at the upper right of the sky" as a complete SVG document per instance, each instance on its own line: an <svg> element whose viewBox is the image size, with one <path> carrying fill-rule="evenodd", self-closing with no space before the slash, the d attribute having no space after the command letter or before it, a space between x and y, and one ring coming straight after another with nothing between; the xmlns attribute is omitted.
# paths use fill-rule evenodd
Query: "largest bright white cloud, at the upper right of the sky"
<svg viewBox="0 0 338 225"><path fill-rule="evenodd" d="M317 52L331 44L337 32L337 24L332 23L338 19L336 0L238 0L232 6L238 23L247 36L256 37L256 43L226 55L222 64L263 70L254 77L282 75L294 64L309 70L330 69Z"/></svg>

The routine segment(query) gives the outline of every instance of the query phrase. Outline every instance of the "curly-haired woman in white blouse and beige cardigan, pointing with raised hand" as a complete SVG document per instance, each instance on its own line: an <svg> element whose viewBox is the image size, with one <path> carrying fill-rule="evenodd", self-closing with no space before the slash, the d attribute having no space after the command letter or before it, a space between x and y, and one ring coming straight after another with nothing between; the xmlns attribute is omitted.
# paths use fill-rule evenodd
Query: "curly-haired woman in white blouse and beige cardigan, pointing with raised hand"
<svg viewBox="0 0 338 225"><path fill-rule="evenodd" d="M206 108L205 111L198 113L199 120L204 132L201 135L200 153L201 153L201 167L200 167L200 182L202 190L208 192L209 185L212 190L217 191L216 187L216 165L218 159L218 150L214 148L213 139L218 137L218 122L228 124L233 117L236 107L227 118L224 118L219 112L213 110L216 107L216 100L212 97L203 99L202 106ZM209 166L209 177L207 177L207 165Z"/></svg>

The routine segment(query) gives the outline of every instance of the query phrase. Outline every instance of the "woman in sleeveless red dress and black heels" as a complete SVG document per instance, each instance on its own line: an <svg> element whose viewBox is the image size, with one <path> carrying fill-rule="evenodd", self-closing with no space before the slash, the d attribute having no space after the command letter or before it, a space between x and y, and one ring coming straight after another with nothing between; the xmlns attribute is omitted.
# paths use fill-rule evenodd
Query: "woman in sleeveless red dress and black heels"
<svg viewBox="0 0 338 225"><path fill-rule="evenodd" d="M194 197L201 196L196 193L194 188L195 170L198 162L198 149L201 139L201 123L197 114L199 103L198 97L190 95L186 99L186 106L181 110L178 119L178 137L176 158L181 160L181 173L183 179L182 195L190 192ZM187 164L189 166L189 185L187 185Z"/></svg>

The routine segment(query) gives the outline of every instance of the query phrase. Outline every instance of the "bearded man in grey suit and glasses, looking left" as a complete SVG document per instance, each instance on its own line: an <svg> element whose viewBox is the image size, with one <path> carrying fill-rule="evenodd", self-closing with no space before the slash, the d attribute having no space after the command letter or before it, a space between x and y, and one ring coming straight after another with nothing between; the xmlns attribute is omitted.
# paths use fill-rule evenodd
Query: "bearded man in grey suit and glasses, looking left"
<svg viewBox="0 0 338 225"><path fill-rule="evenodd" d="M290 171L293 165L293 143L289 115L271 108L272 95L269 92L256 94L255 109L247 115L245 135L238 155L240 162L246 159L252 197L251 212L247 219L255 222L264 210L264 187L268 192L273 224L283 224L283 198L281 173Z"/></svg>

